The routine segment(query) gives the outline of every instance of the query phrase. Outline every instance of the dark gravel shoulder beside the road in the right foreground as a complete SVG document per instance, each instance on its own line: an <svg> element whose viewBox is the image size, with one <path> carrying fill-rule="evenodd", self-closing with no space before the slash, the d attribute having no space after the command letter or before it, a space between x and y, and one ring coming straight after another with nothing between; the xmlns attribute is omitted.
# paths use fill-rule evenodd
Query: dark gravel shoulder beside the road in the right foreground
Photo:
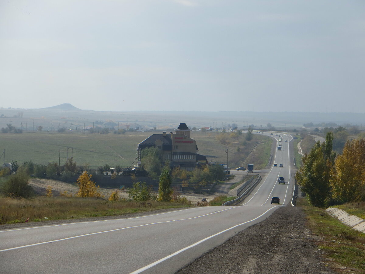
<svg viewBox="0 0 365 274"><path fill-rule="evenodd" d="M177 274L328 273L315 236L305 226L300 208L285 206L221 246L183 267Z"/></svg>

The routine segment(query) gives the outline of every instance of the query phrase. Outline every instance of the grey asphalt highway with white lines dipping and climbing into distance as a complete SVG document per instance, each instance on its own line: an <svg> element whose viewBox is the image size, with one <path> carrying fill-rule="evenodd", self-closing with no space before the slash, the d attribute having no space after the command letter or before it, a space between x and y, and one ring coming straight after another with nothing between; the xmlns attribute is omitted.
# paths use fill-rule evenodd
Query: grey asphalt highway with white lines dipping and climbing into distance
<svg viewBox="0 0 365 274"><path fill-rule="evenodd" d="M285 139L291 141L283 135L283 149L272 161L284 167L271 165L241 206L0 230L1 273L174 273L291 203L294 186ZM277 183L279 175L285 184ZM280 198L280 205L270 203L272 196Z"/></svg>

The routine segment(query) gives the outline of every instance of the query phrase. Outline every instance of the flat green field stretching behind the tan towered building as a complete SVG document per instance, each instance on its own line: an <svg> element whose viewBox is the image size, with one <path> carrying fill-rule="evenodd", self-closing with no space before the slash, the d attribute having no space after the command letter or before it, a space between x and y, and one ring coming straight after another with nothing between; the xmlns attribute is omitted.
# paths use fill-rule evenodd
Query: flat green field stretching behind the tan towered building
<svg viewBox="0 0 365 274"><path fill-rule="evenodd" d="M32 160L36 164L60 161L61 165L67 157L73 157L77 165L89 165L97 168L109 164L111 167L120 165L129 167L137 157L137 145L151 134L161 134L162 130L127 132L125 134L90 134L88 132L24 132L23 134L0 134L1 162ZM228 163L233 161L238 147L253 145L262 142L264 136L254 134L251 143L245 143L245 134L237 139L229 139L227 145L221 144L217 136L220 132L193 131L191 137L196 140L198 153L207 156L208 161ZM229 134L229 133L227 133ZM261 145L261 144L260 144ZM257 151L261 151L258 149ZM267 163L270 155L265 155ZM244 159L242 159L243 161ZM234 164L235 167L236 164Z"/></svg>

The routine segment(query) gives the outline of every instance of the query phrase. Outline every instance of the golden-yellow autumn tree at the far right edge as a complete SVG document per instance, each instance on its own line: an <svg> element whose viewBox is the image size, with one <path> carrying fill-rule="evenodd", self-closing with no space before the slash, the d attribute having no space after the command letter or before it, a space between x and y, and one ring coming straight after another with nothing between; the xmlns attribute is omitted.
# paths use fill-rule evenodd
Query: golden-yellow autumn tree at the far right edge
<svg viewBox="0 0 365 274"><path fill-rule="evenodd" d="M365 200L365 140L347 141L335 160L331 180L333 198L339 202Z"/></svg>

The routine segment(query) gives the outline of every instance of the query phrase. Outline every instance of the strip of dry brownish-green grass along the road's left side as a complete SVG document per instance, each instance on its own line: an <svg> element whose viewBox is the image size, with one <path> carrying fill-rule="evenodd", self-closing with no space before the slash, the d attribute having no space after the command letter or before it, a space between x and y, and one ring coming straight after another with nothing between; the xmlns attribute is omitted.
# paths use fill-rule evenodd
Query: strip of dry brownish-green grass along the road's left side
<svg viewBox="0 0 365 274"><path fill-rule="evenodd" d="M36 197L0 198L0 224L29 221L78 219L179 208L187 205L168 202L105 201L97 198Z"/></svg>

